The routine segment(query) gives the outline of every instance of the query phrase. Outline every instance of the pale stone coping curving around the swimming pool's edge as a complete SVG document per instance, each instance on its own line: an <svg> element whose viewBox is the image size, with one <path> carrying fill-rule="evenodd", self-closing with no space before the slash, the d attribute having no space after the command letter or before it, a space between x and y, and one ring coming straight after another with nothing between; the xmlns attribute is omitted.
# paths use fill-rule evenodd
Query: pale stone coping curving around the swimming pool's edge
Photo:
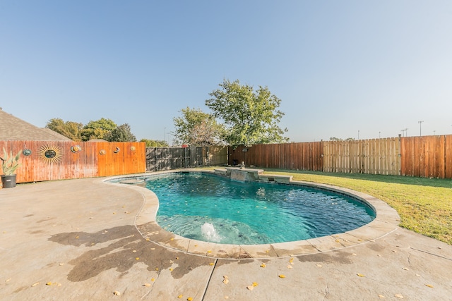
<svg viewBox="0 0 452 301"><path fill-rule="evenodd" d="M215 242L204 242L201 240L184 238L180 235L165 231L165 229L161 228L155 221L159 202L157 195L155 195L153 191L137 185L109 182L109 180L118 178L138 178L181 171L214 173L213 171L200 170L198 168L186 168L182 170L157 171L153 173L141 173L129 176L114 176L105 179L104 183L107 183L108 185L120 185L141 193L143 197L143 206L136 215L135 226L143 238L151 240L158 245L162 245L169 249L189 254L222 259L270 259L275 257L292 257L303 254L317 254L319 252L340 250L369 241L374 241L388 235L389 233L392 233L393 231L396 231L398 224L400 223L400 216L395 209L390 207L381 199L377 199L371 195L333 185L291 180L290 185L321 188L355 197L374 209L376 217L370 223L367 223L366 225L352 231L326 235L320 238L310 238L308 240L297 240L293 242L277 242L263 245L218 244Z"/></svg>

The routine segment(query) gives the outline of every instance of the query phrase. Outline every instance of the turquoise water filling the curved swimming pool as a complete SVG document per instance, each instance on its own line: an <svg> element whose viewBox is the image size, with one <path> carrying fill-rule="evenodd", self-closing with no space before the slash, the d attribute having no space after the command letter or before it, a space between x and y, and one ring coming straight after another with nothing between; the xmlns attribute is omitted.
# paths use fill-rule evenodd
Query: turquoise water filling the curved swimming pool
<svg viewBox="0 0 452 301"><path fill-rule="evenodd" d="M157 223L185 238L256 245L317 238L372 221L352 197L299 185L238 182L208 173L147 177L160 207Z"/></svg>

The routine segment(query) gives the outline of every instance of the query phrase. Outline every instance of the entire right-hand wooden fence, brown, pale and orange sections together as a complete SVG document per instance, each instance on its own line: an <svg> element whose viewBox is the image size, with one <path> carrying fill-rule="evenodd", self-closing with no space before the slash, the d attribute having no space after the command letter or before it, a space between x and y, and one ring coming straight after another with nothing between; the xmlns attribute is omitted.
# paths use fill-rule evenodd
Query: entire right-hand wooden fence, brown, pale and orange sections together
<svg viewBox="0 0 452 301"><path fill-rule="evenodd" d="M452 135L300 142L228 149L228 164L331 173L452 178Z"/></svg>

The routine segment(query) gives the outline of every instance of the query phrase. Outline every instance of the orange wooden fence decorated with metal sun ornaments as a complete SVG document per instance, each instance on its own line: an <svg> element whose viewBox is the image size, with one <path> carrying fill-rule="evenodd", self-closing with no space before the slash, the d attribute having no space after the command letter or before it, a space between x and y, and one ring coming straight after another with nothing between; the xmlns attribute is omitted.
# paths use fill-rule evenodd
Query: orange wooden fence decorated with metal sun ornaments
<svg viewBox="0 0 452 301"><path fill-rule="evenodd" d="M16 155L16 182L116 176L145 172L144 142L0 141ZM26 155L28 154L28 155Z"/></svg>

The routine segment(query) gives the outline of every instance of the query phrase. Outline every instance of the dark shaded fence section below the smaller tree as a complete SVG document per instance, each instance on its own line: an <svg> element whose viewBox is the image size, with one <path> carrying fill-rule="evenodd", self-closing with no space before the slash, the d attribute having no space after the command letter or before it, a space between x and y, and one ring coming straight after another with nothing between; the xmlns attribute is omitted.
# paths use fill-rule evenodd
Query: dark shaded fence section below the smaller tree
<svg viewBox="0 0 452 301"><path fill-rule="evenodd" d="M227 147L147 147L146 171L221 165L227 163Z"/></svg>

